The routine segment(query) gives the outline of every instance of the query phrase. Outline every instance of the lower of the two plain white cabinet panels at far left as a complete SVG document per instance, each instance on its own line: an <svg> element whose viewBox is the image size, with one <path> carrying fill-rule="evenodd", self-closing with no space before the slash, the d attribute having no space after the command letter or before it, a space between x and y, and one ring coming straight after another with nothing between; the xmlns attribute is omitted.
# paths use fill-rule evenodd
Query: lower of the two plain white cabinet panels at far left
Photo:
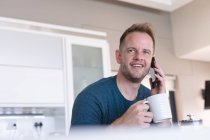
<svg viewBox="0 0 210 140"><path fill-rule="evenodd" d="M0 77L1 104L16 106L64 104L61 70L0 66Z"/></svg>

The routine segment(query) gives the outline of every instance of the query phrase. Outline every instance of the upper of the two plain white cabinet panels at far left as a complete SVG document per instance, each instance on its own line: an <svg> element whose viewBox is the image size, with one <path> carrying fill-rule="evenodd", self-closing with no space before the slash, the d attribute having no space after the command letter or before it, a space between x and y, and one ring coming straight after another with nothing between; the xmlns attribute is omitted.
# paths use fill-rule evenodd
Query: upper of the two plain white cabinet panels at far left
<svg viewBox="0 0 210 140"><path fill-rule="evenodd" d="M0 64L62 69L63 38L0 29Z"/></svg>

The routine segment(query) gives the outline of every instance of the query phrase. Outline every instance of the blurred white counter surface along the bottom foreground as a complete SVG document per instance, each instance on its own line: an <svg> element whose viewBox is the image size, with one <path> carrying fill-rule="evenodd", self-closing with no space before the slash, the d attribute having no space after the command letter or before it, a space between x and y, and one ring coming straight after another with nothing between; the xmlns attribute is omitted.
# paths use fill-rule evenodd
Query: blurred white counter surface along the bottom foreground
<svg viewBox="0 0 210 140"><path fill-rule="evenodd" d="M209 140L210 128L204 127L174 127L174 128L153 128L153 129L139 129L139 128L119 128L119 129L78 129L70 132L69 136L64 135L48 135L41 137L2 137L0 139L11 140Z"/></svg>

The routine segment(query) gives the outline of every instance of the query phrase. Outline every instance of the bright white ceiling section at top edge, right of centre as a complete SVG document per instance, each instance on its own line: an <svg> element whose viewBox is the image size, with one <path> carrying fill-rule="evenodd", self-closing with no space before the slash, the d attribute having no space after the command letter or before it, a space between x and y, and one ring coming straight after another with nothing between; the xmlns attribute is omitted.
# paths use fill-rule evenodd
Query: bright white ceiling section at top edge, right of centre
<svg viewBox="0 0 210 140"><path fill-rule="evenodd" d="M134 5L172 12L193 0L118 0Z"/></svg>

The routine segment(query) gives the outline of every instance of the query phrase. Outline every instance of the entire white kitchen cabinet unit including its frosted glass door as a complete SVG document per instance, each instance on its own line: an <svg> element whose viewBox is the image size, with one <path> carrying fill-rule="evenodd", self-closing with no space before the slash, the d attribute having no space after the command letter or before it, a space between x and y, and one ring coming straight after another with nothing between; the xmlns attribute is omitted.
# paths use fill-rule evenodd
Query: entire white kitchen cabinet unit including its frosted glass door
<svg viewBox="0 0 210 140"><path fill-rule="evenodd" d="M105 36L30 22L8 25L0 24L0 116L51 116L55 133L68 134L75 97L110 75Z"/></svg>

